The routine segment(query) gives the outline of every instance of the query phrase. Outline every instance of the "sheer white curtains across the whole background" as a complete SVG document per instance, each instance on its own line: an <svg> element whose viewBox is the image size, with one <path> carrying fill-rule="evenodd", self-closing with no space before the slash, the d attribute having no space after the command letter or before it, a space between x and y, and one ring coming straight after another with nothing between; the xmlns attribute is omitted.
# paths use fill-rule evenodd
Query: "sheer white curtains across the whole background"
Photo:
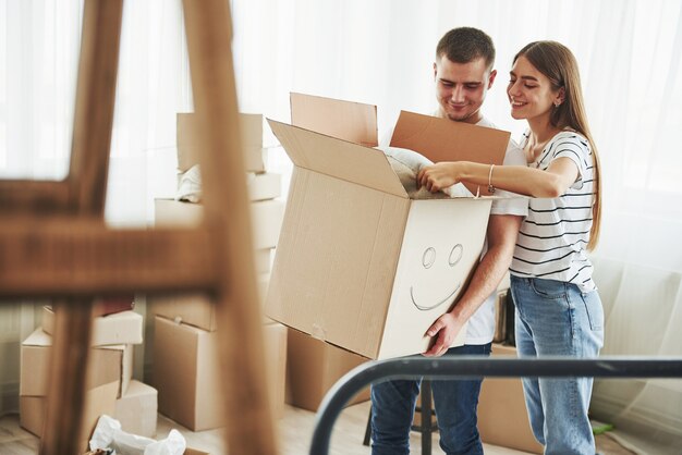
<svg viewBox="0 0 682 455"><path fill-rule="evenodd" d="M485 113L517 137L525 123L510 118L504 94L513 54L536 39L569 46L581 65L602 161L597 279L599 265L606 271L605 284L597 284L616 302L608 303L605 353L646 346L634 354L682 354L674 330L682 322L678 0L232 0L231 7L241 110L284 121L290 91L377 104L381 130L401 109L430 112L436 42L448 29L470 25L486 30L498 50L499 75ZM0 0L0 177L66 172L81 10L78 0ZM154 197L172 195L175 113L191 109L179 1L129 0L109 222L146 224ZM268 167L291 169L281 150L270 153ZM620 267L628 273L617 282L611 278ZM626 286L633 283L642 291L637 298ZM650 342L654 334L660 343ZM607 396L609 406L595 411L605 419L641 419L633 403L646 397L666 431L682 436L680 381L660 383L644 383L656 384L650 394L637 385L630 395ZM608 390L597 384L596 402ZM659 411L659 404L670 409Z"/></svg>

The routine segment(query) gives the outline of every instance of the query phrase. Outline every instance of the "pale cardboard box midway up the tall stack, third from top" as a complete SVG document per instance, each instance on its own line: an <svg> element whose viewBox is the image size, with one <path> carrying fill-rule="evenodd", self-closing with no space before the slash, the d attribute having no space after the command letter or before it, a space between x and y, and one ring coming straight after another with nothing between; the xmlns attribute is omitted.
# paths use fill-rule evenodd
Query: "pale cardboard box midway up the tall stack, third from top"
<svg viewBox="0 0 682 455"><path fill-rule="evenodd" d="M204 218L204 207L200 204L155 199L154 208L157 226L193 228L198 225ZM252 202L249 208L254 249L276 247L284 218L284 202L276 199L261 200Z"/></svg>

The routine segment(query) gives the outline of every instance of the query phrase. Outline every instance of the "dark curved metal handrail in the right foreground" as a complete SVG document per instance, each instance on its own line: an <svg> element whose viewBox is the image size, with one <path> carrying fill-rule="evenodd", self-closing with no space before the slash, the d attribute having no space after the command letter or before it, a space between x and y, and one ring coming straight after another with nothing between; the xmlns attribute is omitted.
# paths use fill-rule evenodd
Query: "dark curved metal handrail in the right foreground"
<svg viewBox="0 0 682 455"><path fill-rule="evenodd" d="M351 370L329 390L317 411L310 455L327 455L331 428L343 407L372 383L394 379L480 377L682 378L682 357L600 357L577 359L410 357L369 361Z"/></svg>

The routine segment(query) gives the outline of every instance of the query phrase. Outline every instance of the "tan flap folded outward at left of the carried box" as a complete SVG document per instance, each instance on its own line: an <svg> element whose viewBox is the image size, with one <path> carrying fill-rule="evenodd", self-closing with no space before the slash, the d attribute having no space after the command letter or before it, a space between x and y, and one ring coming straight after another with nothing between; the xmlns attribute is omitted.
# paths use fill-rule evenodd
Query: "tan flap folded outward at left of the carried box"
<svg viewBox="0 0 682 455"><path fill-rule="evenodd" d="M407 198L382 151L270 119L268 123L295 165Z"/></svg>

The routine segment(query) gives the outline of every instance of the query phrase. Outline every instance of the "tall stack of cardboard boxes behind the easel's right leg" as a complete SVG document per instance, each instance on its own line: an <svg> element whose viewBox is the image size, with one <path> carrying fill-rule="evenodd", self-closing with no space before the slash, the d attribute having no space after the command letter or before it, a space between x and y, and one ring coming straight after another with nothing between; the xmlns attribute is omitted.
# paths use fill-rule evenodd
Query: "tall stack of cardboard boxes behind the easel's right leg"
<svg viewBox="0 0 682 455"><path fill-rule="evenodd" d="M180 176L197 162L194 114L178 114ZM251 197L255 272L261 299L269 281L272 250L284 213L281 175L266 172L268 147L259 114L240 114L244 158ZM203 206L174 199L155 201L157 226L196 226ZM170 295L150 298L154 319L153 383L159 391L159 411L193 431L223 425L221 371L218 362L220 330L212 302L205 295ZM276 416L283 415L287 329L264 319L266 366L270 402Z"/></svg>

